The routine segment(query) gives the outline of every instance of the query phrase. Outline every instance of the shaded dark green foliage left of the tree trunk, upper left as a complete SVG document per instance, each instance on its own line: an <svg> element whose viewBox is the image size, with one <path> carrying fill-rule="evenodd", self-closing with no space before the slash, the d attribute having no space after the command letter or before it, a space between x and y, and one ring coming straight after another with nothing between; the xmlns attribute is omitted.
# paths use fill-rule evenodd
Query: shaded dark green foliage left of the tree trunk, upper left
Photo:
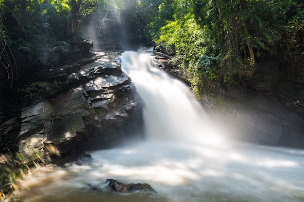
<svg viewBox="0 0 304 202"><path fill-rule="evenodd" d="M3 24L19 72L55 65L68 52L67 1L2 0ZM12 58L10 58L12 60Z"/></svg>

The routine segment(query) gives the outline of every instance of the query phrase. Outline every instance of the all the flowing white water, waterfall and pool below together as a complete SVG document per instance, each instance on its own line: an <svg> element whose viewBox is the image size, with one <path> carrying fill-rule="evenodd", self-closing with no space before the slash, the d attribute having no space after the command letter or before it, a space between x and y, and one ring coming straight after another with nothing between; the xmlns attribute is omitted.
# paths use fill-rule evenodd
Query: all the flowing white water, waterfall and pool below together
<svg viewBox="0 0 304 202"><path fill-rule="evenodd" d="M122 69L145 102L146 140L91 151L93 161L23 182L22 202L304 202L304 150L229 142L188 88L126 51ZM157 194L118 194L107 178Z"/></svg>

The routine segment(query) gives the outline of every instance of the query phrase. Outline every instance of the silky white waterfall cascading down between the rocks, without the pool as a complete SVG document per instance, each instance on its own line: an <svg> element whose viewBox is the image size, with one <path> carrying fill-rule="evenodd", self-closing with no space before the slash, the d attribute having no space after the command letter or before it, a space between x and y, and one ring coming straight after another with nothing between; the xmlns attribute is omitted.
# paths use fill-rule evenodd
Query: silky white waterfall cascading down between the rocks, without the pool
<svg viewBox="0 0 304 202"><path fill-rule="evenodd" d="M150 139L222 143L220 131L215 130L188 87L154 68L148 53L126 51L121 63L145 103L144 121Z"/></svg>

